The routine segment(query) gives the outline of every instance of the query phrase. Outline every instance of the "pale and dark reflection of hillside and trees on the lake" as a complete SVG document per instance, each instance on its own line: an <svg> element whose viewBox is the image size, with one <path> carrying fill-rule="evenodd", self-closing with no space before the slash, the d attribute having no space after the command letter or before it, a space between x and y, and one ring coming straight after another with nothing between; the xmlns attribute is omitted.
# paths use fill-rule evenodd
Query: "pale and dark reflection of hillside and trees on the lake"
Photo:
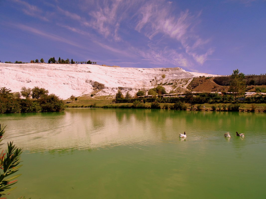
<svg viewBox="0 0 266 199"><path fill-rule="evenodd" d="M178 133L186 131L186 141L224 145L223 134L235 131L256 136L255 127L266 129L263 114L175 111L152 109L67 109L61 113L28 113L1 115L7 124L7 140L14 140L24 150L61 151L110 148L118 145L156 145L178 141ZM3 121L3 122L2 122ZM258 132L259 133L259 132ZM251 136L250 136L251 137ZM258 142L257 139L236 140L235 149ZM7 141L6 140L6 141ZM266 140L263 137L263 142ZM186 147L186 146L184 146Z"/></svg>

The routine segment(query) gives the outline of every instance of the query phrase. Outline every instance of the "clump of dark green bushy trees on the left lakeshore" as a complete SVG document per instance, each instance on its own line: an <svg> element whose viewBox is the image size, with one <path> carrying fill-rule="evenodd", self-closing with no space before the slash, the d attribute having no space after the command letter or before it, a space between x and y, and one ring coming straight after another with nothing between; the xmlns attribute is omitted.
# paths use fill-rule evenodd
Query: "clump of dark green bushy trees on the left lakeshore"
<svg viewBox="0 0 266 199"><path fill-rule="evenodd" d="M65 109L63 100L48 90L35 86L23 86L20 92L12 93L6 87L0 88L0 113L29 113L62 111ZM23 99L24 97L25 99Z"/></svg>

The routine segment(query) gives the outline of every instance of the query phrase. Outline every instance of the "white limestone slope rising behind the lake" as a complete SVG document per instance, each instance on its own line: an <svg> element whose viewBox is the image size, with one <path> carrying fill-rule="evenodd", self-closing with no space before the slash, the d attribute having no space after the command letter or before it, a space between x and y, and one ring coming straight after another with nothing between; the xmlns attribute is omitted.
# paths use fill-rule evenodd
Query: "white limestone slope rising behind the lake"
<svg viewBox="0 0 266 199"><path fill-rule="evenodd" d="M165 79L162 75L165 74ZM83 94L95 93L93 87L97 81L105 85L97 95L115 95L118 87L122 92L133 95L138 89L155 87L160 82L177 82L185 88L193 77L217 76L207 73L187 72L182 68L119 68L95 64L6 64L0 63L0 87L19 92L22 86L39 86L49 90L62 99ZM152 80L155 79L156 80ZM185 81L184 81L185 80ZM152 82L150 82L152 81ZM157 82L156 82L157 81ZM173 86L165 86L169 92Z"/></svg>

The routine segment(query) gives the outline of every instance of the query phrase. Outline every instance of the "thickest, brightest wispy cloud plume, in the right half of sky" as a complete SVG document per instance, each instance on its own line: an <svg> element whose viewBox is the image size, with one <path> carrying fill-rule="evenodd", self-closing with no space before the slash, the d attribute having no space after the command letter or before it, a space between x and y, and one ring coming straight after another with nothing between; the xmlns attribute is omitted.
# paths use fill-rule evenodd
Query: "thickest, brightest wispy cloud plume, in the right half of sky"
<svg viewBox="0 0 266 199"><path fill-rule="evenodd" d="M194 25L199 23L200 14L201 12L192 15L189 10L185 10L180 11L179 15L174 15L170 5L165 5L161 1L148 2L140 9L141 17L135 30L144 33L151 41L155 42L158 40L158 38L155 39L156 36L159 36L160 39L167 37L173 39L185 50L186 56L181 51L180 53L176 51L179 56L187 57L186 59L191 57L196 63L202 65L208 55L214 52L214 49L209 48L205 50L205 53L200 53L204 49L204 45L210 42L210 38L200 38L193 29ZM158 53L160 54L160 52ZM182 61L182 64L186 66L187 62Z"/></svg>

